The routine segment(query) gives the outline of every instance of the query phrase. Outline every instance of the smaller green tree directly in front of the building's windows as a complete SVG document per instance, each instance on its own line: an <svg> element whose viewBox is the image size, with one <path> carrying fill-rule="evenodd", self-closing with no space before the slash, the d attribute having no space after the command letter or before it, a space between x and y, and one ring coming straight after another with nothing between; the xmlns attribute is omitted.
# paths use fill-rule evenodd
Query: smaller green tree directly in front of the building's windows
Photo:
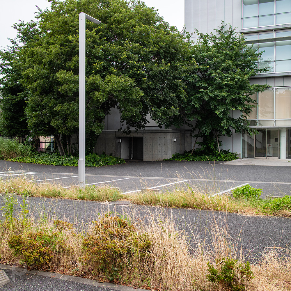
<svg viewBox="0 0 291 291"><path fill-rule="evenodd" d="M196 33L199 39L191 48L183 113L192 133L198 130L196 136L203 137L204 143L215 139L219 150L219 136L231 136L232 129L255 132L247 120L257 107L252 95L268 85L251 85L250 78L267 69L258 68L262 53L246 45L244 36L230 25L222 23L210 34ZM234 111L241 112L239 117L231 114Z"/></svg>

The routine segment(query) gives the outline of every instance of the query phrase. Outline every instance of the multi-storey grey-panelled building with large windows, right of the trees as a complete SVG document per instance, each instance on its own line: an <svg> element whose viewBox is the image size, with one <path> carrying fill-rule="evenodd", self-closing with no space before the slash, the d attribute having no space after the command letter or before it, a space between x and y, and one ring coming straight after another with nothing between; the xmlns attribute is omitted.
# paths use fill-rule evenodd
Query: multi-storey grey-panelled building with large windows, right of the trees
<svg viewBox="0 0 291 291"><path fill-rule="evenodd" d="M187 31L211 33L222 21L237 27L247 44L265 51L258 66L269 66L269 72L250 82L271 86L253 96L259 107L249 120L259 134L225 137L223 148L245 158L290 159L291 0L185 0Z"/></svg>

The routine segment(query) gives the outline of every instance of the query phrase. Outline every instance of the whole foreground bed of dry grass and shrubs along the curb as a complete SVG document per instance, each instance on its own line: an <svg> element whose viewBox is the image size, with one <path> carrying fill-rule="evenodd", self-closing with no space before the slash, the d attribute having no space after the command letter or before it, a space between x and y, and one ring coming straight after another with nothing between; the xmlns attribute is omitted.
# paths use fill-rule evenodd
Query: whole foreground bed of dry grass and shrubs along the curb
<svg viewBox="0 0 291 291"><path fill-rule="evenodd" d="M15 209L15 201L7 201L4 208ZM166 214L143 213L145 223L139 214L101 213L78 228L45 213L37 221L23 219L23 210L29 207L1 216L1 263L151 290L290 290L290 250L266 250L260 263L249 263L238 255L226 223L219 227L215 219L207 225L208 245L196 233L189 244L189 233Z"/></svg>

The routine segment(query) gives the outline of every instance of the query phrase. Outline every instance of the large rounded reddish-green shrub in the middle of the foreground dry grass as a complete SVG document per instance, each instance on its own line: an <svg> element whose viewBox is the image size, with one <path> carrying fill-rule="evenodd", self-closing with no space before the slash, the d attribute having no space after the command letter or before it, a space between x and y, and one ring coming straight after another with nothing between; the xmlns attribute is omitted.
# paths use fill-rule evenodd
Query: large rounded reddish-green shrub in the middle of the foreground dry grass
<svg viewBox="0 0 291 291"><path fill-rule="evenodd" d="M82 257L95 274L106 275L109 280L138 260L141 266L150 252L151 242L145 233L125 218L105 214L94 222L94 229L83 239L85 255Z"/></svg>

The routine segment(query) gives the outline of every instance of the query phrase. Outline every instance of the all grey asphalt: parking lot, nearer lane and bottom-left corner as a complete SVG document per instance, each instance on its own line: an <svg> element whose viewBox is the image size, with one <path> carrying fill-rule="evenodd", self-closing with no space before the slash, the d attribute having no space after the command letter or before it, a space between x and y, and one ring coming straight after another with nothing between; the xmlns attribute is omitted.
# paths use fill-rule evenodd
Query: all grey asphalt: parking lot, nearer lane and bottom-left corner
<svg viewBox="0 0 291 291"><path fill-rule="evenodd" d="M276 194L289 194L291 170L289 165L291 163L289 161L276 160L277 164L273 165L274 160L270 164L268 164L268 160L266 161L259 161L255 165L250 163L257 162L256 160L238 160L236 163L233 162L234 164L231 162L210 164L207 162L187 161L132 161L127 164L115 166L103 166L100 168L88 167L86 168L86 180L87 184L112 184L113 186L119 187L122 191L137 191L144 185L147 187L158 186L161 189L166 189L166 187L176 187L177 184L182 183L193 183L194 185L201 183L201 187L218 185L217 188L214 187L215 191L218 191L230 187L233 184L250 182L252 186L261 186L264 189L264 195L271 194L270 192L272 191L275 194L276 191L271 189L276 190L278 187L284 190L282 191L281 189ZM264 162L265 164L263 164ZM0 176L2 176L2 179L9 179L11 175L13 175L12 177L22 175L27 178L33 178L36 181L39 180L39 182L57 181L64 187L69 187L70 183L77 184L77 178L73 177L77 176L78 173L78 168L75 167L42 166L1 161L1 170L2 173L0 173ZM183 180L187 181L181 182ZM175 182L179 183L163 186ZM238 251L241 249L246 259L254 262L260 260L260 252L266 249L282 247L287 248L290 252L291 246L291 223L289 218L245 216L241 214L192 209L145 207L132 205L127 201L101 203L37 197L29 197L29 207L31 215L36 218L42 213L49 218L64 219L84 228L88 226L88 223L96 220L100 213L104 212L119 213L128 216L135 215L143 220L143 223L147 223L147 213L154 214L156 217L163 215L172 218L178 229L183 229L188 232L189 243L192 246L195 246L199 238L200 242L204 242L206 248L212 247L214 238L212 237L211 230L218 224L221 230L228 233L230 241L238 246ZM5 271L7 271L8 276L10 274L12 279L14 278L14 281L0 287L0 290L100 290L96 289L100 287L112 289L111 286L104 285L85 286L82 285L84 282L72 283L68 281L64 283L60 281L62 278L60 279L57 276L55 276L56 278L50 278L34 274L31 277L27 273L22 276L15 276L13 272L9 273L9 270ZM27 278L30 279L27 280ZM118 288L117 290L123 290L121 286L116 288Z"/></svg>

